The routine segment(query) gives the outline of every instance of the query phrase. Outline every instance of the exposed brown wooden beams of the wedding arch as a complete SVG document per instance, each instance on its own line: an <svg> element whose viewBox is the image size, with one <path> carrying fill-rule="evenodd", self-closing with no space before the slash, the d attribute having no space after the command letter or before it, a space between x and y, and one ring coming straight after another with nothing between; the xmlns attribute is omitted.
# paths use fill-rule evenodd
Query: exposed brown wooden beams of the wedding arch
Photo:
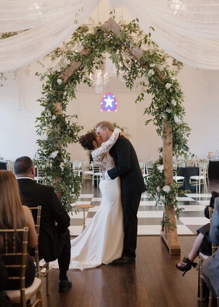
<svg viewBox="0 0 219 307"><path fill-rule="evenodd" d="M110 33L115 33L118 36L122 32L122 28L112 19L109 18L104 25L101 26L102 29L105 29L105 37L108 37ZM125 43L124 43L125 45ZM130 54L140 62L142 57L143 51L137 45L133 45L130 49L126 49L130 52ZM86 55L89 53L88 49L82 49L80 54ZM67 83L69 78L72 76L74 71L82 65L81 61L73 60L70 65L61 73L59 78L62 79L63 82ZM61 103L56 103L56 111L58 113L62 113ZM172 134L169 132L171 131L171 127L165 129L166 138L163 138L163 161L164 161L164 176L166 176L166 181L168 183L173 182L173 159L172 159ZM165 206L164 206L164 213L165 213ZM170 223L174 223L176 225L175 213L173 205L170 205L170 210L168 211L170 214ZM179 255L180 254L180 246L178 241L177 229L174 228L172 230L171 227L165 226L161 228L160 232L161 237L164 239L165 243L169 248L169 252L172 255Z"/></svg>

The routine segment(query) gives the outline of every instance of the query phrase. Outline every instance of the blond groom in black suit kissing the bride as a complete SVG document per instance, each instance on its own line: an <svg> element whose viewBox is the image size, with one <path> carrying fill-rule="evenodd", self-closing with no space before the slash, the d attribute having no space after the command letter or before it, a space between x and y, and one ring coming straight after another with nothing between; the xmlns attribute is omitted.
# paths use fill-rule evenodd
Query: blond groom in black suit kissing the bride
<svg viewBox="0 0 219 307"><path fill-rule="evenodd" d="M114 130L111 122L105 121L98 122L95 128L103 142L108 141ZM130 141L119 135L109 153L115 161L115 167L103 171L102 177L103 179L120 177L124 227L123 254L113 263L135 262L138 231L137 212L142 192L145 192L146 187L136 152Z"/></svg>

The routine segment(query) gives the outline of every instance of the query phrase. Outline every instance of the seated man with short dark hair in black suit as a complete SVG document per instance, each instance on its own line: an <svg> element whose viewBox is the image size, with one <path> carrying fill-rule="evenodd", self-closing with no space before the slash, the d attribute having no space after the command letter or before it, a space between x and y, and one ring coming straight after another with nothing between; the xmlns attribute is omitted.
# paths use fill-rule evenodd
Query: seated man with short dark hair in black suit
<svg viewBox="0 0 219 307"><path fill-rule="evenodd" d="M67 278L66 275L70 263L71 249L68 230L70 217L55 194L53 187L33 181L36 171L29 157L17 158L14 163L14 173L17 176L23 204L28 207L42 206L39 255L43 256L46 262L58 258L59 291L66 291L72 285L70 278Z"/></svg>

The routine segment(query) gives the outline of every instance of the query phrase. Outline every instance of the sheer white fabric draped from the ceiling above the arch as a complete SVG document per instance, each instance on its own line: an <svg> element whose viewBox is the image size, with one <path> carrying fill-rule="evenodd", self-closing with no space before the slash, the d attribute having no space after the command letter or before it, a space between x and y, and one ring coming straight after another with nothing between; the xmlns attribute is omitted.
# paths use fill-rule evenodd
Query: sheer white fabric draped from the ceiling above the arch
<svg viewBox="0 0 219 307"><path fill-rule="evenodd" d="M152 40L177 60L219 69L218 0L108 0L108 5L138 17L145 33L152 25ZM57 48L96 6L96 0L0 0L0 32L26 30L0 41L0 72L24 67Z"/></svg>

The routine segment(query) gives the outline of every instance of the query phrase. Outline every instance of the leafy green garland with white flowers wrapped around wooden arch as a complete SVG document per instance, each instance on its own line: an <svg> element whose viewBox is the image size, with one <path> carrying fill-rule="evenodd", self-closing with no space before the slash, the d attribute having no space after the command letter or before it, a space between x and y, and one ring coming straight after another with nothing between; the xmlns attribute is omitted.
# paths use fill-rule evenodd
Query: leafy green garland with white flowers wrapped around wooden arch
<svg viewBox="0 0 219 307"><path fill-rule="evenodd" d="M138 22L138 19L136 18ZM46 164L46 179L59 178L55 186L56 191L62 194L62 203L67 211L72 209L70 195L72 194L72 187L75 194L73 199L76 199L79 192L79 178L71 175L71 170L67 162L70 160L69 153L66 153L66 147L69 143L77 142L77 134L82 127L76 124L70 124L70 117L62 114L57 115L55 111L55 103L62 102L62 110L66 111L66 105L69 98L76 98L76 86L80 82L92 86L89 74L93 73L93 67L98 69L103 65L102 54L107 52L110 59L119 71L123 71L123 79L127 88L132 88L134 80L139 80L141 86L140 93L135 101L144 99L144 94L147 92L151 94L152 102L148 108L145 109L144 114L153 116L153 123L157 126L157 134L162 138L165 137L164 119L166 126L171 126L173 138L173 155L177 158L183 156L188 158L189 148L187 146L187 137L190 134L190 128L184 122L184 107L183 93L176 79L174 79L173 72L168 70L168 66L164 66L162 53L158 49L147 49L143 52L140 63L131 56L128 49L132 45L142 46L142 43L155 45L149 37L151 33L145 35L144 39L140 39L138 43L133 43L130 39L132 29L137 26L136 21L130 22L127 29L122 30L119 35L111 33L110 36L105 37L104 29L96 27L93 33L81 33L79 41L85 49L89 49L87 55L82 55L79 52L68 56L70 61L81 61L81 66L70 77L67 84L63 83L60 74L63 73L64 67L60 67L60 71L53 72L51 69L45 74L36 75L41 77L41 80L46 80L43 84L43 98L39 99L41 105L45 110L41 113L41 117L37 133L46 132L46 140L38 140L40 146L37 151L36 162ZM150 31L154 29L150 27ZM124 53L126 58L124 58ZM75 115L77 118L77 116ZM145 122L147 125L152 119ZM58 142L58 147L57 143ZM57 155L55 155L55 152ZM159 148L162 153L162 148ZM61 165L62 164L62 165ZM62 170L64 167L64 171ZM70 173L69 173L70 172ZM152 197L157 197L156 205L164 204L166 207L166 215L162 221L163 225L176 227L176 225L169 222L168 208L174 204L176 216L179 217L179 212L182 211L177 205L177 196L182 195L183 192L178 191L178 186L175 183L165 183L163 172L163 159L160 155L159 160L154 164L153 171L150 173L150 179L147 181L147 191L152 194Z"/></svg>

